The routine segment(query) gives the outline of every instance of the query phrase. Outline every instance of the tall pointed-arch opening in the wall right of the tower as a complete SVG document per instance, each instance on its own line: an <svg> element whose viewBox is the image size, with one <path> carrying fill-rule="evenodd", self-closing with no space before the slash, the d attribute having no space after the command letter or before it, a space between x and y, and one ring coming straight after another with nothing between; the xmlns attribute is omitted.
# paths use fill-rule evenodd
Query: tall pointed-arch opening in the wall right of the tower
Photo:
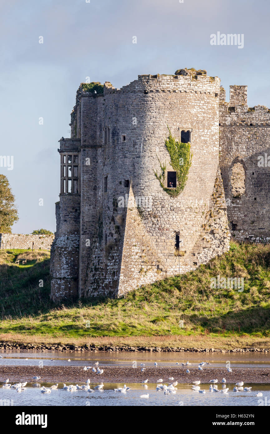
<svg viewBox="0 0 270 434"><path fill-rule="evenodd" d="M241 157L231 161L229 168L229 192L232 199L240 199L246 195L247 168Z"/></svg>

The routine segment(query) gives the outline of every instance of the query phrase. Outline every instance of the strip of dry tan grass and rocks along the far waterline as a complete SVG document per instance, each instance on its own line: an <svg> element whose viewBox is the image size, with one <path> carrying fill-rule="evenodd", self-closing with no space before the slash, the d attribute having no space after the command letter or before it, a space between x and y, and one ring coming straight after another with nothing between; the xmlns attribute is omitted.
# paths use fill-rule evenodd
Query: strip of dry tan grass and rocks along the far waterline
<svg viewBox="0 0 270 434"><path fill-rule="evenodd" d="M270 338L244 336L102 336L53 339L51 336L0 334L1 350L146 351L146 352L270 352Z"/></svg>

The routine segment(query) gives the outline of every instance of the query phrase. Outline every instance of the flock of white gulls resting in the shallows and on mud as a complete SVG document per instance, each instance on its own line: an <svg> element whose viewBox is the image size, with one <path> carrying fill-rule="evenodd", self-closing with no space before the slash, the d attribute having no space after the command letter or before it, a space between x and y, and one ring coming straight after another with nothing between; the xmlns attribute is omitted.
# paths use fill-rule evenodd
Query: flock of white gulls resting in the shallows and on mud
<svg viewBox="0 0 270 434"><path fill-rule="evenodd" d="M0 357L2 358L2 356L0 356ZM68 359L68 362L70 362L70 359ZM179 363L177 362L176 365L179 365ZM185 366L187 367L189 365L191 365L191 363L189 363L189 362L182 363L182 367L185 367ZM198 370L202 371L204 365L211 365L211 363L210 362L199 363L198 364ZM154 363L154 366L155 367L157 366L156 362ZM141 368L140 369L141 372L145 372L146 371L145 363L141 363L140 368ZM95 362L94 366L85 366L83 368L83 371L88 371L88 370L91 370L93 373L95 373L97 375L102 375L104 373L104 370L102 368L99 368L98 362ZM227 371L229 373L231 373L232 369L228 368ZM190 374L189 368L187 368L186 373ZM39 387L40 392L42 394L49 394L49 393L51 393L52 390L55 390L58 388L59 383L56 383L55 385L52 385L49 388L45 387L45 386L40 387L40 384L38 383L38 381L40 379L41 379L40 376L34 376L32 378L32 380L34 381L33 386ZM5 380L3 382L3 386L2 386L3 389L16 389L17 392L22 392L22 391L26 390L27 381L19 382L19 383L13 384L13 385L11 385L11 383L9 381L10 381L9 378L7 378L7 380ZM147 386L148 381L149 381L148 378L146 378L146 380L142 381L141 384L145 388L147 388L148 387ZM176 391L177 391L176 386L178 385L178 382L174 381L173 377L169 377L168 381L166 381L166 382L169 384L163 384L163 378L159 378L156 381L156 391L164 391L164 395L176 394ZM222 386L221 389L218 389L218 379L217 378L215 378L213 380L209 380L208 383L211 383L210 387L209 387L209 392L228 393L229 388L226 388L226 379L225 378L222 378L222 380L221 380L221 386ZM103 382L101 382L101 384L95 386L94 389L90 388L90 384L91 384L90 378L88 378L88 380L83 385L76 384L76 385L69 385L68 386L65 383L63 383L62 390L70 391L70 392L77 391L77 390L85 390L85 391L92 393L94 391L100 391L104 387ZM200 384L201 384L200 380L192 381L191 390L196 391L196 392L201 393L201 394L205 394L206 391L205 391L205 389L201 390ZM238 392L238 391L250 392L250 391L252 391L252 387L243 387L243 386L244 386L244 381L238 381L237 383L235 383L235 387L233 388L233 391L234 392ZM120 392L120 393L126 393L129 390L131 390L131 388L127 387L127 385L124 385L124 387L114 388L115 392ZM261 392L259 392L259 393L257 393L256 396L258 396L258 397L263 396L263 394ZM144 394L144 395L140 395L140 398L149 398L149 393Z"/></svg>

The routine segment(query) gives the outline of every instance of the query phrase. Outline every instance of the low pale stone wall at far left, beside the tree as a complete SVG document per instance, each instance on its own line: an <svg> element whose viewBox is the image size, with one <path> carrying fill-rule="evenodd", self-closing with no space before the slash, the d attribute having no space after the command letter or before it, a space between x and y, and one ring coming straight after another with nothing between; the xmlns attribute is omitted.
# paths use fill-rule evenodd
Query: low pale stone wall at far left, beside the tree
<svg viewBox="0 0 270 434"><path fill-rule="evenodd" d="M49 250L54 237L54 235L0 233L0 247L1 249Z"/></svg>

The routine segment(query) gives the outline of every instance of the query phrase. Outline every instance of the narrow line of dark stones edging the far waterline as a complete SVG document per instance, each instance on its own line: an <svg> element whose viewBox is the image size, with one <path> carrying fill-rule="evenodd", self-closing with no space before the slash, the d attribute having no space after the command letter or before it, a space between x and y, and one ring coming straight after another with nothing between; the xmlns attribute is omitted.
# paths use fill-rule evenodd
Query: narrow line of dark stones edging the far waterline
<svg viewBox="0 0 270 434"><path fill-rule="evenodd" d="M0 350L38 350L38 351L127 351L127 352L270 352L269 348L244 347L234 349L215 349L215 348L185 348L185 347L134 347L134 346L94 346L85 344L83 346L76 345L50 345L50 344L18 344L10 342L0 342Z"/></svg>

